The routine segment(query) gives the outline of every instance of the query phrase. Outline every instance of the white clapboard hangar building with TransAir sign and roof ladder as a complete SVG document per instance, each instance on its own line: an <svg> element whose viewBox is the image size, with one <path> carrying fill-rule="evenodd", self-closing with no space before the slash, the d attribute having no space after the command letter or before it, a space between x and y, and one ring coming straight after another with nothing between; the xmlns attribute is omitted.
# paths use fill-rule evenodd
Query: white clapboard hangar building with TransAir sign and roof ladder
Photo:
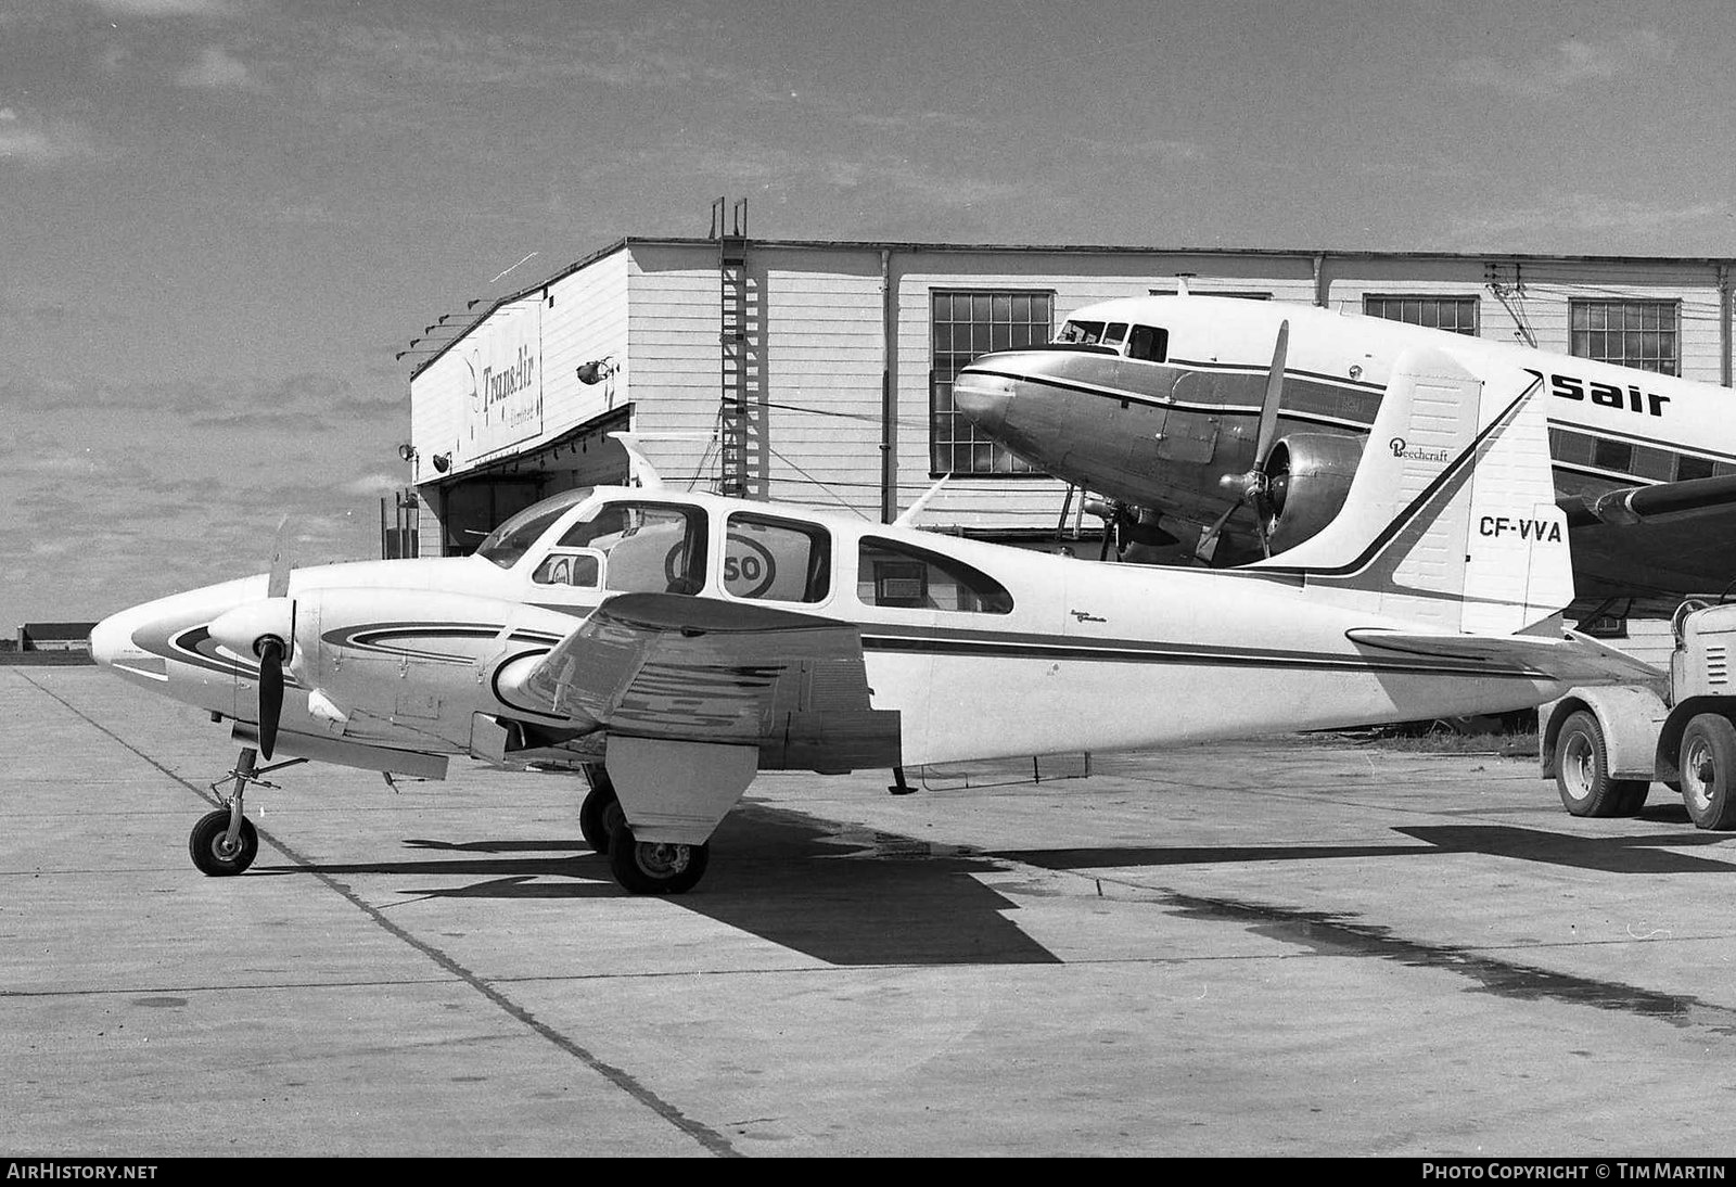
<svg viewBox="0 0 1736 1187"><path fill-rule="evenodd" d="M953 474L927 526L1095 536L1064 484L953 411L951 380L1083 304L1179 278L1731 384L1731 260L625 238L406 351L415 498L385 534L469 552L538 498L623 481L606 434L630 429L674 486L884 521ZM1677 477L1679 460L1625 441L1555 453L1618 481Z"/></svg>

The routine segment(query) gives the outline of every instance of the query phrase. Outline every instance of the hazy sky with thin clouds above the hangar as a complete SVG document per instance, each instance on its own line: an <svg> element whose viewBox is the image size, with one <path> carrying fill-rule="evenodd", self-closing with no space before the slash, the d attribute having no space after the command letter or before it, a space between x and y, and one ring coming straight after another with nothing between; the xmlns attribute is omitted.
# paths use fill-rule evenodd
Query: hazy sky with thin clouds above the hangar
<svg viewBox="0 0 1736 1187"><path fill-rule="evenodd" d="M0 630L378 552L436 316L625 234L1736 255L1736 5L0 0ZM526 259L528 257L528 259Z"/></svg>

